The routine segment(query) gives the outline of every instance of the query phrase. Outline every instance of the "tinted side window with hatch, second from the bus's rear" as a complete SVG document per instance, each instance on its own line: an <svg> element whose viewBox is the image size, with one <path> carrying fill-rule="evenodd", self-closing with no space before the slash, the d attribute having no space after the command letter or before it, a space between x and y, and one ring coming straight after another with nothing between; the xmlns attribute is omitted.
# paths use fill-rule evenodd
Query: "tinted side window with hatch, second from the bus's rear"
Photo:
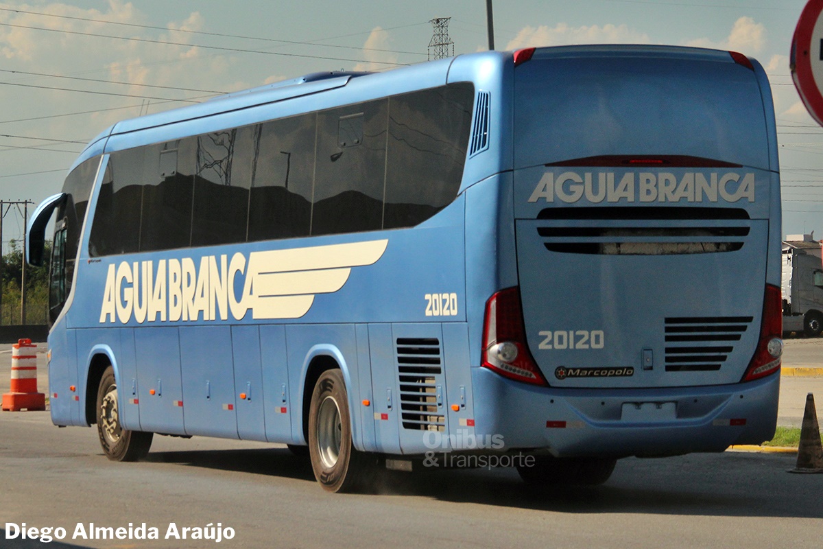
<svg viewBox="0 0 823 549"><path fill-rule="evenodd" d="M312 235L383 225L388 100L318 114Z"/></svg>

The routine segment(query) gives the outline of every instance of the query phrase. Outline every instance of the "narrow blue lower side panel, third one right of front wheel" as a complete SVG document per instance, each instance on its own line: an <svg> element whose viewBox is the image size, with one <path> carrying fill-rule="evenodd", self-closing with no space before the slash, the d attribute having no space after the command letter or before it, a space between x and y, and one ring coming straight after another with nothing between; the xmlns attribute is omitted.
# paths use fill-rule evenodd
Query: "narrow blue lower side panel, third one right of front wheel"
<svg viewBox="0 0 823 549"><path fill-rule="evenodd" d="M260 331L257 326L232 326L231 351L235 362L237 434L244 440L266 440L264 401L280 405L280 393L263 393L263 366L260 363ZM241 398L244 394L245 398ZM285 406L285 404L283 405Z"/></svg>

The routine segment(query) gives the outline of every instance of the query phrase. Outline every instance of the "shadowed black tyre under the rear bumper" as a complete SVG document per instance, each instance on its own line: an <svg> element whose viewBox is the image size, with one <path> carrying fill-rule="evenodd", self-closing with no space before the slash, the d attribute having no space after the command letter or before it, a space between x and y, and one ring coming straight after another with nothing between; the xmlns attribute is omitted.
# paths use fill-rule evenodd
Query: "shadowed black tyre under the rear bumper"
<svg viewBox="0 0 823 549"><path fill-rule="evenodd" d="M532 456L531 465L517 466L520 478L533 486L597 486L609 480L615 458L553 458Z"/></svg>

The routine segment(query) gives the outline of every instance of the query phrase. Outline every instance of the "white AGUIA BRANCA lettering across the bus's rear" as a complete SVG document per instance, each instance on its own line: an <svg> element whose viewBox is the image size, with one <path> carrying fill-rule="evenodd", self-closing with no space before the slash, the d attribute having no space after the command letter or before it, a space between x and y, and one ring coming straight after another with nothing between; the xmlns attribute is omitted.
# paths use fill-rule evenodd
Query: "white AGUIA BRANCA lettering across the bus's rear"
<svg viewBox="0 0 823 549"><path fill-rule="evenodd" d="M755 174L727 174L686 172L678 180L675 174L667 172L629 172L620 180L613 172L579 174L567 171L543 174L528 202L578 202L586 198L588 202L737 202L746 199L755 202Z"/></svg>

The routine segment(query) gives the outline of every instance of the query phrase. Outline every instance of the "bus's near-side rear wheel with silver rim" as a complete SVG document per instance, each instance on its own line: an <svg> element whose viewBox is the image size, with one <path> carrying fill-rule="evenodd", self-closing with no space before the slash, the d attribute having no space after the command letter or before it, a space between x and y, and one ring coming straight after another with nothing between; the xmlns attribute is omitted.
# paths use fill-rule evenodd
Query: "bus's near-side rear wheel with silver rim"
<svg viewBox="0 0 823 549"><path fill-rule="evenodd" d="M356 491L370 469L368 454L351 443L351 414L340 370L326 370L309 407L309 456L314 477L331 492Z"/></svg>

